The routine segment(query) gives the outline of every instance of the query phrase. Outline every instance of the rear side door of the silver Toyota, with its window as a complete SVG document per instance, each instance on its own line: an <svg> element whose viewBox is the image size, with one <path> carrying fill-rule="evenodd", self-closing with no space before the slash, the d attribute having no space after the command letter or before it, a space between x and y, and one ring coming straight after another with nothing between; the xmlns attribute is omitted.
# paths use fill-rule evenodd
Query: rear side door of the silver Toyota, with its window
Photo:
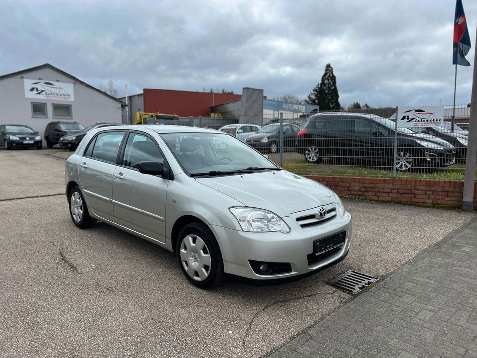
<svg viewBox="0 0 477 358"><path fill-rule="evenodd" d="M113 174L125 131L97 134L79 162L79 183L92 213L114 222Z"/></svg>

